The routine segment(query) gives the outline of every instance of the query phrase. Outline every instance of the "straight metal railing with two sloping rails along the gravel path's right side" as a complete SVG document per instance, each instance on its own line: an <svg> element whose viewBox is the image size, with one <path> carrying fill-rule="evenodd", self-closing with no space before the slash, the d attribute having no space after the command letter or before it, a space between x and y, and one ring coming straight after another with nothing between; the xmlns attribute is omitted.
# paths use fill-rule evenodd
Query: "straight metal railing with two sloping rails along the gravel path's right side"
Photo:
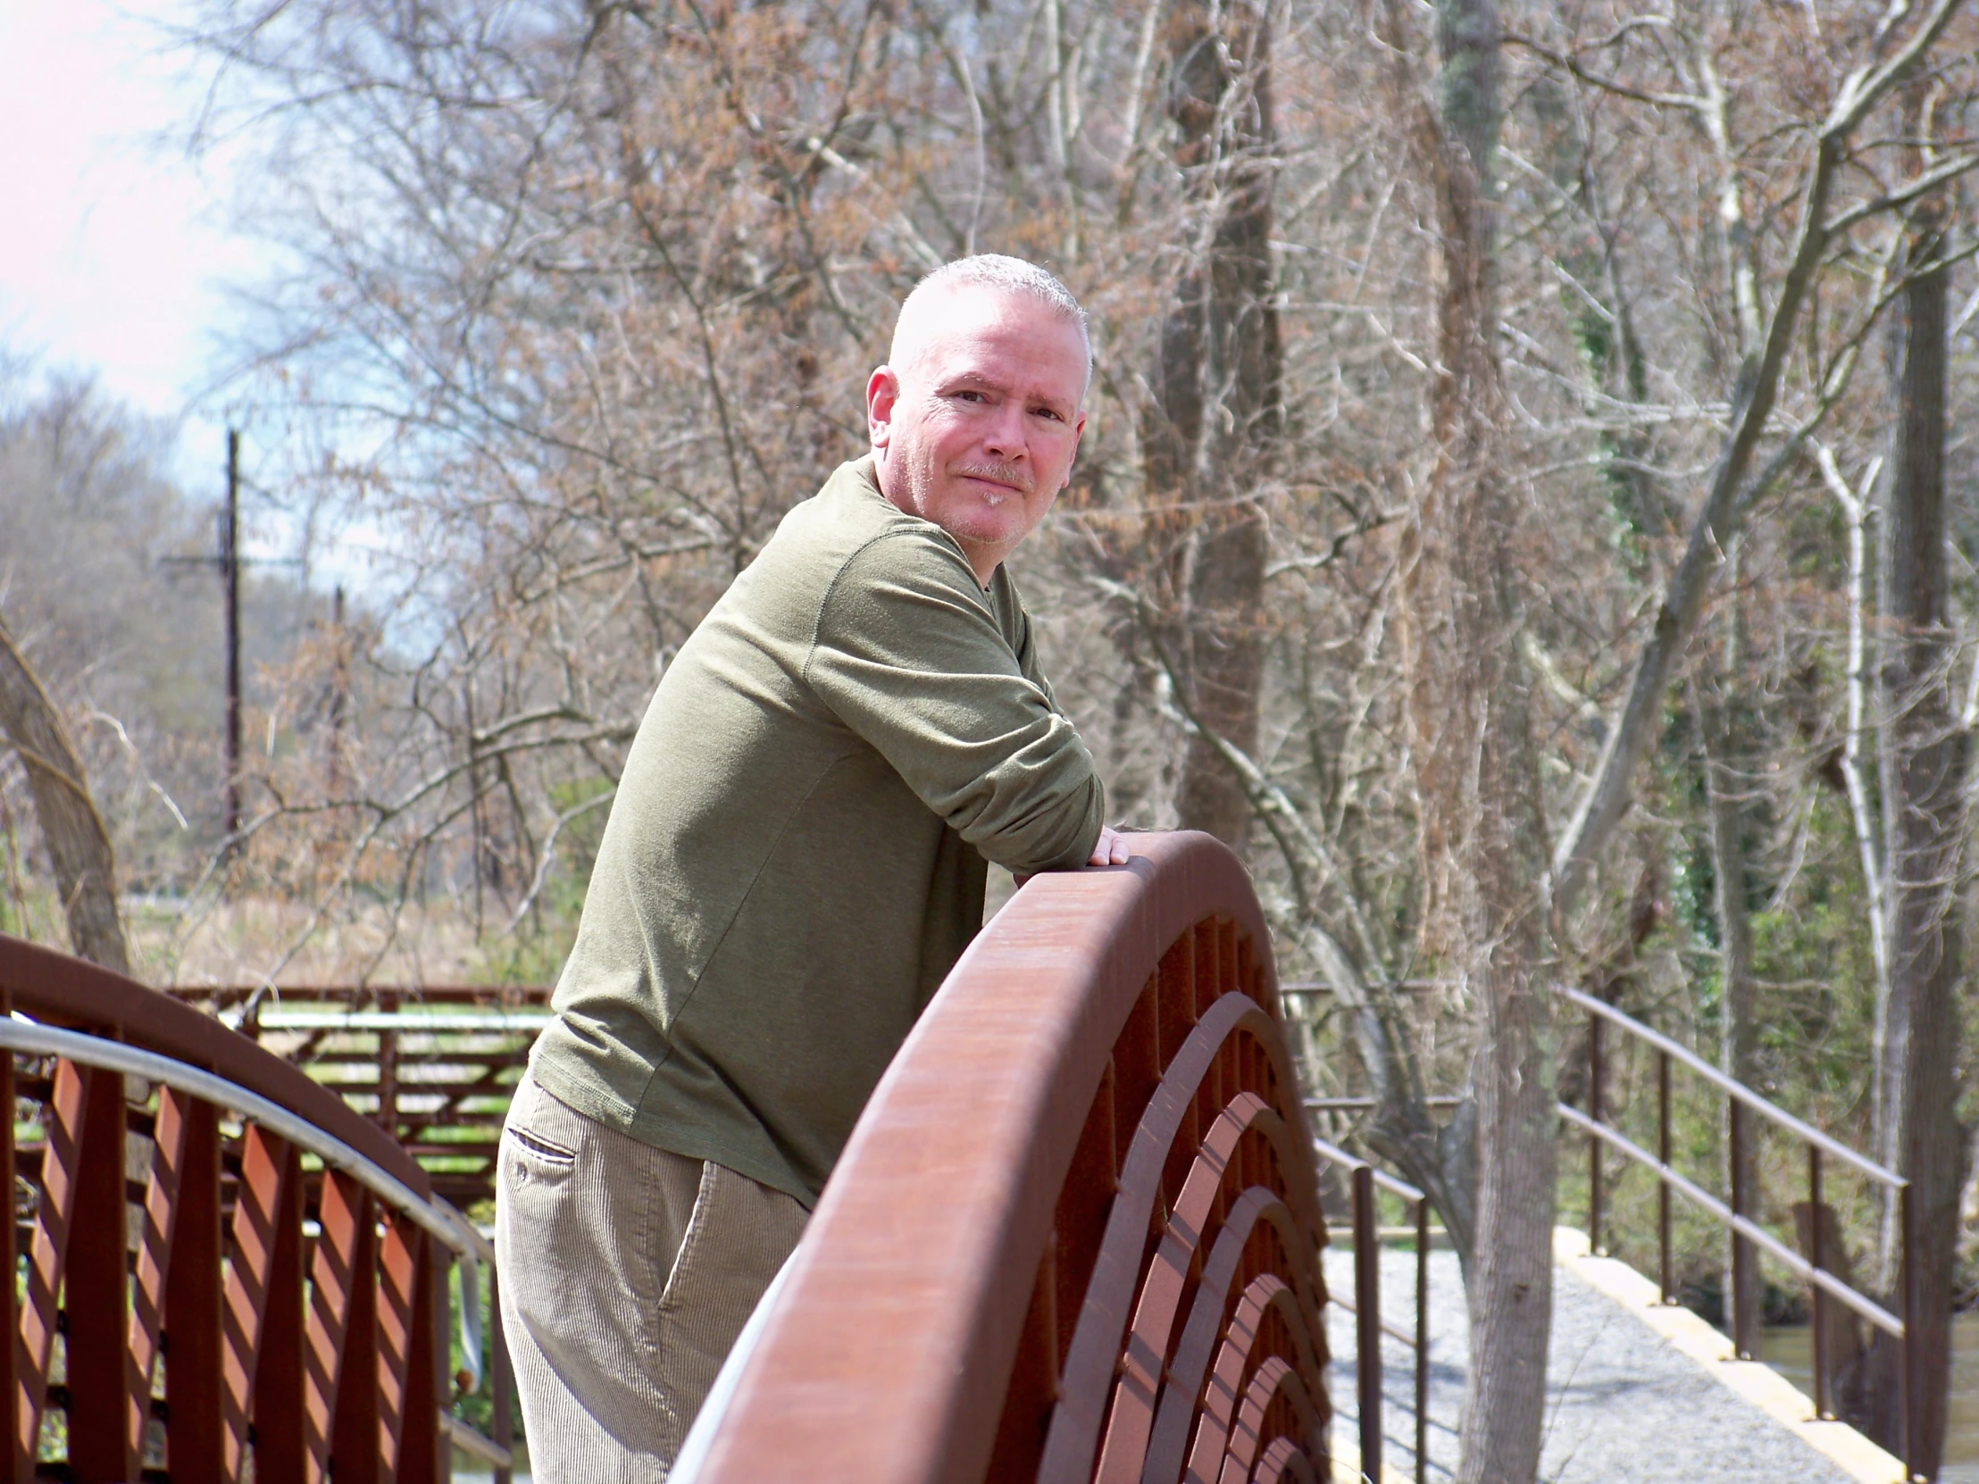
<svg viewBox="0 0 1979 1484"><path fill-rule="evenodd" d="M1603 1169L1601 1169L1601 1148L1613 1148L1621 1152L1631 1161L1650 1169L1656 1175L1656 1270L1658 1288L1662 1292L1664 1304L1676 1302L1672 1262L1670 1262L1670 1191L1682 1195L1690 1205L1708 1213L1726 1227L1732 1256L1732 1292L1726 1296L1726 1308L1732 1316L1732 1345L1742 1359L1751 1359L1757 1353L1759 1336L1751 1332L1747 1316L1757 1312L1757 1272L1755 1254L1763 1251L1767 1256L1775 1258L1781 1266L1793 1272L1807 1284L1809 1298L1813 1304L1813 1344L1815 1344L1815 1415L1821 1419L1831 1419L1835 1413L1829 1407L1829 1357L1823 1353L1823 1338L1827 1330L1827 1304L1838 1302L1858 1318L1866 1320L1876 1330L1882 1330L1892 1340L1902 1345L1902 1359L1898 1367L1900 1375L1900 1401L1902 1423L1898 1425L1898 1437L1904 1440L1904 1464L1906 1474L1910 1470L1910 1460L1920 1452L1920 1440L1912 1435L1912 1419L1916 1409L1910 1399L1918 1385L1918 1353L1914 1344L1914 1330L1910 1326L1910 1304L1912 1304L1912 1284L1916 1278L1914 1266L1914 1247L1912 1247L1912 1213L1910 1213L1910 1181L1888 1169L1874 1159L1868 1159L1846 1144L1840 1144L1819 1128L1795 1118L1785 1108L1767 1102L1763 1096L1753 1092L1743 1082L1726 1076L1722 1070L1712 1067L1708 1061L1698 1057L1688 1047L1672 1041L1660 1031L1652 1031L1641 1021L1625 1015L1607 1001L1595 999L1593 995L1561 985L1557 991L1567 1003L1577 1005L1587 1011L1587 1110L1569 1108L1559 1104L1559 1116L1569 1124L1587 1134L1587 1245L1591 1251L1601 1252L1601 1223L1603 1223ZM1603 1027L1613 1025L1627 1037L1649 1047L1656 1057L1656 1152L1641 1148L1629 1140L1621 1130L1607 1122L1607 1055L1603 1047ZM1728 1201L1720 1201L1710 1191L1702 1189L1696 1181L1686 1179L1670 1165L1670 1068L1682 1067L1692 1076L1698 1076L1716 1092L1726 1098L1726 1193ZM1791 1247L1773 1237L1765 1227L1757 1225L1751 1217L1757 1211L1757 1191L1745 1189L1745 1179L1742 1169L1745 1167L1743 1148L1751 1138L1749 1118L1757 1114L1765 1118L1775 1128L1785 1130L1789 1136L1801 1142L1807 1150L1807 1201L1809 1201L1809 1237L1811 1252L1801 1256ZM1896 1193L1898 1201L1898 1243L1902 1251L1902 1270L1898 1278L1898 1306L1902 1314L1892 1314L1882 1304L1878 1304L1868 1294L1850 1288L1827 1266L1827 1241L1825 1229L1829 1225L1823 1199L1823 1163L1833 1161L1844 1169L1852 1169L1856 1175L1882 1185Z"/></svg>

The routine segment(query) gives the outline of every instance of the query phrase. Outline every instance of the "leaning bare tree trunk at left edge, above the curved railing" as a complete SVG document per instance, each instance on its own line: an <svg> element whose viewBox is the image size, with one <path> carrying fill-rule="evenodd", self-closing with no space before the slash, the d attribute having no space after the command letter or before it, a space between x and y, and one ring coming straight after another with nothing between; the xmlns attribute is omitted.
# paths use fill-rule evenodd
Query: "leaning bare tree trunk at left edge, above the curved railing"
<svg viewBox="0 0 1979 1484"><path fill-rule="evenodd" d="M42 839L55 865L55 888L69 916L69 948L117 974L131 972L117 918L117 857L103 815L89 797L83 764L69 744L61 712L0 625L0 732L14 744Z"/></svg>

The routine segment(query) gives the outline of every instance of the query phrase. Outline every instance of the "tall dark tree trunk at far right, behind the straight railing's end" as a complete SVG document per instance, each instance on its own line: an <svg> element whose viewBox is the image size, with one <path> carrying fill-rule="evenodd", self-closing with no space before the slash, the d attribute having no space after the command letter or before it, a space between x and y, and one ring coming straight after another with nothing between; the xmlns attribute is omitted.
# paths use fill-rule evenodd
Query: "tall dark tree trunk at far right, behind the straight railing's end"
<svg viewBox="0 0 1979 1484"><path fill-rule="evenodd" d="M1941 206L1937 208L1943 210ZM1884 1019L1876 1154L1910 1181L1912 1262L1896 1211L1880 1243L1882 1288L1908 1298L1918 1375L1908 1438L1898 1435L1900 1345L1878 1336L1872 1415L1878 1440L1935 1478L1943 1452L1951 1345L1951 1264L1963 1134L1957 1124L1959 847L1965 732L1951 695L1957 655L1945 574L1945 279L1941 226L1908 243L1896 396L1898 427L1882 522L1880 772L1890 1003ZM1904 1292L1908 1288L1908 1294ZM1904 1312L1904 1310L1898 1310Z"/></svg>

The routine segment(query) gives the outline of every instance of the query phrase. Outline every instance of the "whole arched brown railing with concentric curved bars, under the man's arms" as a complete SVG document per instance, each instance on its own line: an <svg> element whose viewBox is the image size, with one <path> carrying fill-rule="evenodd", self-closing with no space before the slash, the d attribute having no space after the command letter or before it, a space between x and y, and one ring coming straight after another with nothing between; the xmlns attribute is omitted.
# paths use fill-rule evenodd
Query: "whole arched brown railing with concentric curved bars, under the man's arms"
<svg viewBox="0 0 1979 1484"><path fill-rule="evenodd" d="M1326 1241L1249 881L1031 881L867 1104L697 1484L1330 1478Z"/></svg>

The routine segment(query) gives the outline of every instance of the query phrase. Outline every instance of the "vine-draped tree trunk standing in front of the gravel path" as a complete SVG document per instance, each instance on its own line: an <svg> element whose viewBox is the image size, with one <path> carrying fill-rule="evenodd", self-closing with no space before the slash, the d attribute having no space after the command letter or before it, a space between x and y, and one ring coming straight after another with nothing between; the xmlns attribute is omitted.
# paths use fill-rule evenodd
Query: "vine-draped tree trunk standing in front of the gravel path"
<svg viewBox="0 0 1979 1484"><path fill-rule="evenodd" d="M1464 1484L1538 1476L1554 1294L1546 829L1524 623L1526 503L1498 358L1492 152L1498 16L1439 0L1437 109L1419 125L1441 245L1437 463L1403 536L1403 655L1431 922L1478 1007L1476 1229Z"/></svg>

